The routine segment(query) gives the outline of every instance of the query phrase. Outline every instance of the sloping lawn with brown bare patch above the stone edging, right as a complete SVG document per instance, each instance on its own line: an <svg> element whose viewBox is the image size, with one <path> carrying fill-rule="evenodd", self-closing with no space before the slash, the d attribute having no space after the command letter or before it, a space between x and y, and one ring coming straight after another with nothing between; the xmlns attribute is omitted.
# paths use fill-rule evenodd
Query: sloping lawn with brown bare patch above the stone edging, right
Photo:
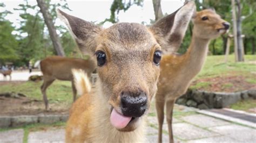
<svg viewBox="0 0 256 143"><path fill-rule="evenodd" d="M234 92L255 88L256 55L245 55L245 62L234 62L234 55L207 56L205 65L193 79L192 89Z"/></svg>

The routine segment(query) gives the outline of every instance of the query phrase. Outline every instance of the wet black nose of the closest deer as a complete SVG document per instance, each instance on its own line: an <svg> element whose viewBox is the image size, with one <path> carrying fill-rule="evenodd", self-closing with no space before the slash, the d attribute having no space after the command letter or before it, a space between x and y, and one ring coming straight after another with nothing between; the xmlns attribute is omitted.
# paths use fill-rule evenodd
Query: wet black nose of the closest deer
<svg viewBox="0 0 256 143"><path fill-rule="evenodd" d="M145 92L123 92L121 95L122 112L127 117L140 117L147 108L147 96Z"/></svg>

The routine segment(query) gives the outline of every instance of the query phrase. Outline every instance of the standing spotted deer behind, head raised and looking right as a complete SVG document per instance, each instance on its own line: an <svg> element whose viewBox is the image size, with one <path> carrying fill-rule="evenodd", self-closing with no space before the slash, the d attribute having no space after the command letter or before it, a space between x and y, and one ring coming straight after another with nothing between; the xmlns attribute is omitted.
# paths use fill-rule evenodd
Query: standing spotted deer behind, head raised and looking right
<svg viewBox="0 0 256 143"><path fill-rule="evenodd" d="M183 95L194 76L203 67L208 44L211 39L227 32L230 25L213 10L203 10L192 18L194 24L191 44L183 55L169 54L160 62L160 76L157 84L156 108L158 116L158 142L162 140L164 106L169 128L170 142L173 142L172 111L176 99Z"/></svg>

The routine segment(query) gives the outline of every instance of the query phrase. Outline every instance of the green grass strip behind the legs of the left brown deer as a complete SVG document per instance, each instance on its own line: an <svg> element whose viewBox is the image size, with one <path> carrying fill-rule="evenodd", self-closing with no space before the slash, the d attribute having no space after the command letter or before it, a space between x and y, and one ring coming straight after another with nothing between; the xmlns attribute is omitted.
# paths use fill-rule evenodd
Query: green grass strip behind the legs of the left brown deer
<svg viewBox="0 0 256 143"><path fill-rule="evenodd" d="M0 86L1 92L20 92L25 94L31 99L37 99L42 101L42 93L41 93L41 82L22 82L22 83L10 83L7 85ZM56 102L67 102L72 103L73 94L71 88L71 82L69 81L55 81L50 87L46 90L48 99L50 103Z"/></svg>

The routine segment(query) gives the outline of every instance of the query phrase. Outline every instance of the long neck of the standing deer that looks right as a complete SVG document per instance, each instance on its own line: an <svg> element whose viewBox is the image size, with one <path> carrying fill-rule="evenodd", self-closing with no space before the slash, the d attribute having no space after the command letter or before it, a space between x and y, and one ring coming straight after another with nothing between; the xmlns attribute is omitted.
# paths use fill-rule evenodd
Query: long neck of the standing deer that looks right
<svg viewBox="0 0 256 143"><path fill-rule="evenodd" d="M186 75L194 77L199 73L207 56L209 42L210 39L199 38L196 34L192 35L190 47L183 55L185 56L183 69Z"/></svg>

